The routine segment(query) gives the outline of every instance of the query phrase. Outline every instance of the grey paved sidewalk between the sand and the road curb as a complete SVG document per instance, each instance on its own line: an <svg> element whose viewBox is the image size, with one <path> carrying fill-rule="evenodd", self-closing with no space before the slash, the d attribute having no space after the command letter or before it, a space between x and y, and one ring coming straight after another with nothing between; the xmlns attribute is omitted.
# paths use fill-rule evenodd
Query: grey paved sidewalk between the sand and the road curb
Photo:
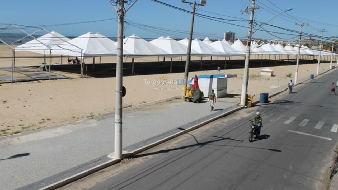
<svg viewBox="0 0 338 190"><path fill-rule="evenodd" d="M268 92L269 97L286 90L286 86L272 89ZM149 144L190 130L191 126L243 108L238 105L239 98L234 98L235 102L218 99L213 112L210 112L206 101L194 104L175 98L123 109L124 153L141 150ZM259 94L254 96L254 102L259 102ZM108 155L114 151L114 116L114 113L106 113L1 137L1 189L40 189L110 162L112 158Z"/></svg>

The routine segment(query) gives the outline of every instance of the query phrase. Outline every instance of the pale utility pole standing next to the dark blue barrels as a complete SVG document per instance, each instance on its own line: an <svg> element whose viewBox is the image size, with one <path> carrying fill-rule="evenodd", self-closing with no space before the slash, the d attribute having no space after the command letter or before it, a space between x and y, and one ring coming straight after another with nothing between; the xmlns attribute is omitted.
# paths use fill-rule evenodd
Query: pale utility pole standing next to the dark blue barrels
<svg viewBox="0 0 338 190"><path fill-rule="evenodd" d="M259 9L259 7L255 7L255 0L251 0L251 8L245 9L246 13L250 12L250 21L249 21L248 41L246 44L246 52L245 52L241 105L245 105L245 102L246 102L245 101L246 91L247 91L248 81L249 81L248 74L249 74L250 46L251 46L251 36L252 36L252 23L254 22L254 11L256 9Z"/></svg>

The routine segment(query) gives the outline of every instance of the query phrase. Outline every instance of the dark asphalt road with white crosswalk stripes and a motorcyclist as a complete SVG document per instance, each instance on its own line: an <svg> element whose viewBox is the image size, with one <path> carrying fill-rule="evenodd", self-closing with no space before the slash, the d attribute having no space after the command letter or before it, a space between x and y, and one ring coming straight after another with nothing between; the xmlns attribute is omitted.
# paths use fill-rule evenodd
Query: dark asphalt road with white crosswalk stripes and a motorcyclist
<svg viewBox="0 0 338 190"><path fill-rule="evenodd" d="M241 110L61 189L317 189L337 144L338 71ZM248 142L260 111L263 138Z"/></svg>

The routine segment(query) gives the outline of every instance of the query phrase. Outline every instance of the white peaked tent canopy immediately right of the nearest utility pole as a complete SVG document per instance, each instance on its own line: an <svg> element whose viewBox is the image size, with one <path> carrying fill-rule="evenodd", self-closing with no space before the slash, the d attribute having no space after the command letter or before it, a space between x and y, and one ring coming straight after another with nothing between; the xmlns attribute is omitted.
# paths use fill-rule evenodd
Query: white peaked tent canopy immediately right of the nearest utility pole
<svg viewBox="0 0 338 190"><path fill-rule="evenodd" d="M115 43L117 45L117 42ZM138 37L136 34L132 34L129 37L123 39L123 49L129 53L124 55L130 57L144 57L144 56L168 56L169 52L145 41Z"/></svg>

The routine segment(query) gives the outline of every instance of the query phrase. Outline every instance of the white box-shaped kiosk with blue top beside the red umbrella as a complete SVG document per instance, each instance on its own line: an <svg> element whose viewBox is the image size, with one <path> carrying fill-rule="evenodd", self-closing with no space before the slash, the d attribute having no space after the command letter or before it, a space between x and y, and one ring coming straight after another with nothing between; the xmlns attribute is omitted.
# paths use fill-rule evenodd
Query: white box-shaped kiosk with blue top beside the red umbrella
<svg viewBox="0 0 338 190"><path fill-rule="evenodd" d="M190 81L194 81L194 78L191 77ZM226 96L227 77L224 74L198 75L197 78L199 89L203 91L204 97L208 97L212 89L214 89L216 98Z"/></svg>

